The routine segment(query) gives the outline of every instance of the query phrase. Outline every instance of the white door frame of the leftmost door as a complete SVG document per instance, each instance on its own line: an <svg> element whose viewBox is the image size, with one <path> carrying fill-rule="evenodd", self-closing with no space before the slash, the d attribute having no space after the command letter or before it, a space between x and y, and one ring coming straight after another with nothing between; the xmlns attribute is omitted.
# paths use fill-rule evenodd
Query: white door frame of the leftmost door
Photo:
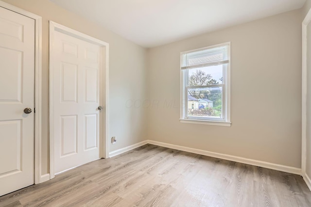
<svg viewBox="0 0 311 207"><path fill-rule="evenodd" d="M41 175L41 70L42 70L42 17L16 6L0 1L0 7L35 20L35 184L49 178L49 174Z"/></svg>

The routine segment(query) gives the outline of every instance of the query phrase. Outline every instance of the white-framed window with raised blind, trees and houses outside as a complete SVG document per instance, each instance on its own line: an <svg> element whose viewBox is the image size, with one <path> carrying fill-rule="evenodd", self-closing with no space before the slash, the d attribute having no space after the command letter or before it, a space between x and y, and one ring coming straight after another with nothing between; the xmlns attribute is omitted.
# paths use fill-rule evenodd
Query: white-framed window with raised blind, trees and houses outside
<svg viewBox="0 0 311 207"><path fill-rule="evenodd" d="M230 126L230 43L181 53L180 121Z"/></svg>

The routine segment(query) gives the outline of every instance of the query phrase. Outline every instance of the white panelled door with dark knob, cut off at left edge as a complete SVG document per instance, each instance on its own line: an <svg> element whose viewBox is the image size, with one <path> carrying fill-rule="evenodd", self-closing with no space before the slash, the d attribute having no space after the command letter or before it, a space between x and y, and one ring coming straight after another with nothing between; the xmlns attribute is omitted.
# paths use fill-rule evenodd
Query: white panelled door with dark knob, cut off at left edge
<svg viewBox="0 0 311 207"><path fill-rule="evenodd" d="M0 195L34 184L34 63L35 20L0 7Z"/></svg>

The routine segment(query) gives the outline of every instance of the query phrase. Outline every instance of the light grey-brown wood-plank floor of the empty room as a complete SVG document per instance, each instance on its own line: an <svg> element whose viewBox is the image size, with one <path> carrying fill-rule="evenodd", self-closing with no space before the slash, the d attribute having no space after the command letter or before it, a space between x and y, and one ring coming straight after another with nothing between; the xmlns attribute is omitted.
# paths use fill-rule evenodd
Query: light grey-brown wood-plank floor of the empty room
<svg viewBox="0 0 311 207"><path fill-rule="evenodd" d="M311 207L299 175L146 144L0 197L25 207Z"/></svg>

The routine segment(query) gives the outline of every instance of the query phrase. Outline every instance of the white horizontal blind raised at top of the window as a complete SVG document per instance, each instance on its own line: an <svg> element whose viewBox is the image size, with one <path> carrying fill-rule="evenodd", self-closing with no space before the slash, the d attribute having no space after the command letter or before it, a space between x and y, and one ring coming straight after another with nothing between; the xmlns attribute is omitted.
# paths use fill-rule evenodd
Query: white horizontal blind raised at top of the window
<svg viewBox="0 0 311 207"><path fill-rule="evenodd" d="M225 45L182 54L181 69L227 64L229 63L228 48L229 45Z"/></svg>

